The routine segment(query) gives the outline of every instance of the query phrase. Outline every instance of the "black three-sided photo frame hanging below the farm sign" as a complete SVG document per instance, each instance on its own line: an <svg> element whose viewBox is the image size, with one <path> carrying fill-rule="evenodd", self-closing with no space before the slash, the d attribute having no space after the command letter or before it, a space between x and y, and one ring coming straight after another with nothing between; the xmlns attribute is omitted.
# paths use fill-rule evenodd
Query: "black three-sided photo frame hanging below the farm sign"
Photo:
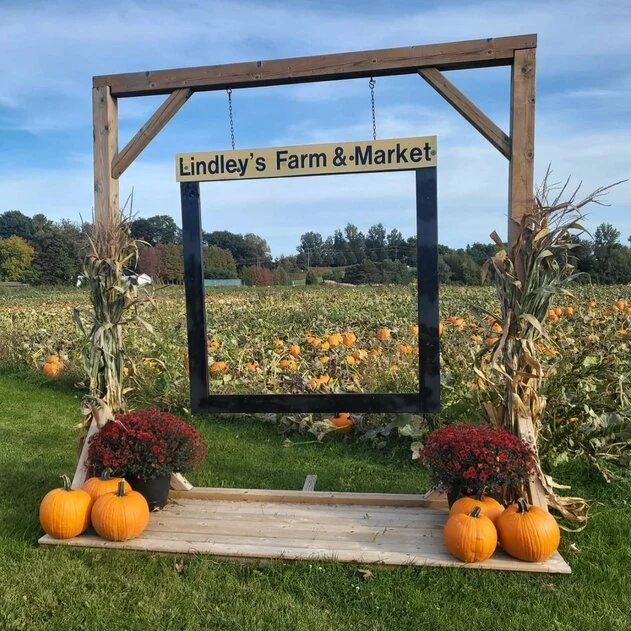
<svg viewBox="0 0 631 631"><path fill-rule="evenodd" d="M181 182L190 404L193 414L440 411L437 168L416 169L419 391L406 393L211 394L199 182Z"/></svg>

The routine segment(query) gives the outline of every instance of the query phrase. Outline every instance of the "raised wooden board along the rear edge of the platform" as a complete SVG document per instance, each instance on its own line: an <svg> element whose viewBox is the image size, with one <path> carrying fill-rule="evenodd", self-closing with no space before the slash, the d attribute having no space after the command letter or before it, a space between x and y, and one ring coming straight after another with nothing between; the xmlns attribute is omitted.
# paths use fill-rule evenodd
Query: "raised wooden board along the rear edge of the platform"
<svg viewBox="0 0 631 631"><path fill-rule="evenodd" d="M225 489L195 487L171 491L173 499L240 500L308 504L362 504L365 506L443 506L441 501L405 493L332 493L329 491L279 491L270 489Z"/></svg>

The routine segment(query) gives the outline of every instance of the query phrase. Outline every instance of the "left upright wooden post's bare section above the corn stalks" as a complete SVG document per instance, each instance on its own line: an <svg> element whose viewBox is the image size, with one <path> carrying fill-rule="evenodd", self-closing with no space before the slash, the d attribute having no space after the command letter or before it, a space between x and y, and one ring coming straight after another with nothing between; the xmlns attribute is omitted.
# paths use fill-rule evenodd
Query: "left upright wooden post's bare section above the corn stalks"
<svg viewBox="0 0 631 631"><path fill-rule="evenodd" d="M94 121L94 221L118 223L120 200L118 180L112 177L112 160L118 152L118 105L107 86L92 90Z"/></svg>

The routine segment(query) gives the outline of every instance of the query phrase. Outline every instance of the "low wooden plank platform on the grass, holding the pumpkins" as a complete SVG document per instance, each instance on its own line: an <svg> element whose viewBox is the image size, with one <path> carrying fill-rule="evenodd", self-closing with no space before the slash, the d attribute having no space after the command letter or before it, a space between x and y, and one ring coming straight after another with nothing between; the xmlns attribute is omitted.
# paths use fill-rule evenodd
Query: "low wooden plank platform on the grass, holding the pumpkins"
<svg viewBox="0 0 631 631"><path fill-rule="evenodd" d="M421 495L193 488L172 491L170 500L131 541L105 541L89 531L66 540L45 535L39 542L234 558L571 571L558 553L525 563L498 550L483 563L461 563L443 545L444 503Z"/></svg>

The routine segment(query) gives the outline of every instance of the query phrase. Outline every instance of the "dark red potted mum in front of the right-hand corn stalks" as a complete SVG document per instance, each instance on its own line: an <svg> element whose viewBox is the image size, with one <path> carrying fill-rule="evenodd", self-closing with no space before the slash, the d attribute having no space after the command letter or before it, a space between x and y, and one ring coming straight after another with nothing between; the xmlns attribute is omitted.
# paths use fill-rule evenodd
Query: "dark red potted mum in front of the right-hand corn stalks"
<svg viewBox="0 0 631 631"><path fill-rule="evenodd" d="M505 499L518 492L535 466L525 441L487 424L446 425L432 432L419 451L432 482L447 491L449 506L464 495Z"/></svg>

